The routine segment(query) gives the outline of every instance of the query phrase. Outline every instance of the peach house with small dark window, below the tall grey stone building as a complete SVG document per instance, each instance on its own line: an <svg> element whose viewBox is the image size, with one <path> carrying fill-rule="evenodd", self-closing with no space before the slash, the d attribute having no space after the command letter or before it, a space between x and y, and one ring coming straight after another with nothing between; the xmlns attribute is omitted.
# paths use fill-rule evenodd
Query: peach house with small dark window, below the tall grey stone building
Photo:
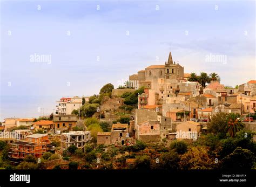
<svg viewBox="0 0 256 187"><path fill-rule="evenodd" d="M161 140L160 136L160 121L147 120L138 124L137 140L144 142L156 142Z"/></svg>

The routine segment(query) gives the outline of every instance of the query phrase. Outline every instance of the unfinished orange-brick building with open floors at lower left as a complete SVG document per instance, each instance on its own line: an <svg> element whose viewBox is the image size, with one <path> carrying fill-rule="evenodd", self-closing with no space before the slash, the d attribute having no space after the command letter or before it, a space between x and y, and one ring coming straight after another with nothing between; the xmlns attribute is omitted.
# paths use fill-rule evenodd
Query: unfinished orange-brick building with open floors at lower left
<svg viewBox="0 0 256 187"><path fill-rule="evenodd" d="M28 155L32 155L35 158L40 158L48 151L48 144L50 144L48 135L32 134L27 136L25 140L11 143L9 157L23 159Z"/></svg>

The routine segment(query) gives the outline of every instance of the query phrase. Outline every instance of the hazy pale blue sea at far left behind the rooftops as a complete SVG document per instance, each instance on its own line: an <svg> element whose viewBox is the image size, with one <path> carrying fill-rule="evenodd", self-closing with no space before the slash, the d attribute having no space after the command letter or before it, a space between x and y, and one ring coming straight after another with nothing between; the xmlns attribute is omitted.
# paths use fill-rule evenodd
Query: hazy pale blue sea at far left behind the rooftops
<svg viewBox="0 0 256 187"><path fill-rule="evenodd" d="M6 117L39 117L56 110L56 95L1 95L0 121Z"/></svg>

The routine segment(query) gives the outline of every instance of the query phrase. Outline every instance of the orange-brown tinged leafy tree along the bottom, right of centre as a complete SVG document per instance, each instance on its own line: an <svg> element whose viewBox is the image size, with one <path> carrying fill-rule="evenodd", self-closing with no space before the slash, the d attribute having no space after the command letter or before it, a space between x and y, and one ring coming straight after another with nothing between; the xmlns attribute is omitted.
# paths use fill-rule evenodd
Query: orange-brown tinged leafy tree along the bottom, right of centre
<svg viewBox="0 0 256 187"><path fill-rule="evenodd" d="M215 164L206 147L190 147L180 158L181 169L212 169Z"/></svg>

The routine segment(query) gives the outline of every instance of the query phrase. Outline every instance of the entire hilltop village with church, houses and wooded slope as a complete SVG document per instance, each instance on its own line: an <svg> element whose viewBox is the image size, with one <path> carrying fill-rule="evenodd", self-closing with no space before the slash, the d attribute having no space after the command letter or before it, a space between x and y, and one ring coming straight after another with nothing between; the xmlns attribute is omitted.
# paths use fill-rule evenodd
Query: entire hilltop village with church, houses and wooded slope
<svg viewBox="0 0 256 187"><path fill-rule="evenodd" d="M255 169L256 80L163 65L56 101L55 113L6 118L1 169Z"/></svg>

